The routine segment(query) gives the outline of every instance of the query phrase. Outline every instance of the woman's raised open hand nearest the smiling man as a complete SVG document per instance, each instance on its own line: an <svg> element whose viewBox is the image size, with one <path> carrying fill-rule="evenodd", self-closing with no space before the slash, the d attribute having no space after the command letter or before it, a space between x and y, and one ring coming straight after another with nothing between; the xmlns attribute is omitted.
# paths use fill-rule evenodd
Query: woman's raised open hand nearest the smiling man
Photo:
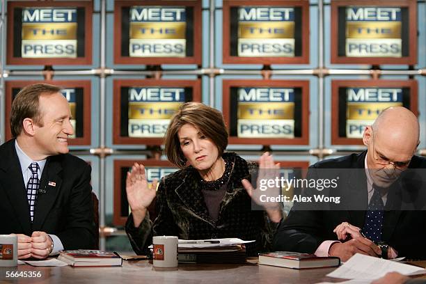
<svg viewBox="0 0 426 284"><path fill-rule="evenodd" d="M127 202L132 210L135 227L139 227L140 223L145 219L147 208L155 198L156 189L157 180L154 180L149 186L143 165L135 163L132 166L132 171L127 172Z"/></svg>

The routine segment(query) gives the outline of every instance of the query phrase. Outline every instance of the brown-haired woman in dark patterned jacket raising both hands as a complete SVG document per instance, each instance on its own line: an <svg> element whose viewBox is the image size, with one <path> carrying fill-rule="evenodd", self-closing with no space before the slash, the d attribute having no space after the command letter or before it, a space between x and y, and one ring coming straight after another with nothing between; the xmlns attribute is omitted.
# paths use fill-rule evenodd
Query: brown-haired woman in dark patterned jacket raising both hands
<svg viewBox="0 0 426 284"><path fill-rule="evenodd" d="M165 139L166 157L180 168L148 185L143 165L127 173L127 200L132 210L126 232L137 254L148 253L152 236L175 235L179 239L238 237L247 255L269 251L282 212L273 204L252 210L258 200L250 182L258 169L233 152L224 152L228 132L222 114L205 104L187 102L171 118ZM260 157L260 168L277 171L269 153ZM243 186L244 184L244 186ZM148 206L155 196L157 219L150 221ZM260 203L256 201L256 203Z"/></svg>

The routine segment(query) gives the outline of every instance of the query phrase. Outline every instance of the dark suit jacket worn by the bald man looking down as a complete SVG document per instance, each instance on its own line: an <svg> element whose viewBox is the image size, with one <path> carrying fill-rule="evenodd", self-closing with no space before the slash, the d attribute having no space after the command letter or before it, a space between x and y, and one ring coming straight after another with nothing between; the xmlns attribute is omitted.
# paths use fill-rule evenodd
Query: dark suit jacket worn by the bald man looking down
<svg viewBox="0 0 426 284"><path fill-rule="evenodd" d="M342 203L328 207L318 205L316 208L319 210L294 205L287 219L277 229L274 250L315 253L325 240L337 240L333 229L343 221L363 228L368 205L365 155L366 152L363 152L360 155L320 161L310 166L308 179L339 177L338 188L328 194L342 196ZM426 159L416 156L411 159L409 168L425 167ZM327 168L332 170L324 171ZM426 183L420 179L420 184L413 184L418 181L412 177L413 174L418 173L405 171L388 191L381 239L395 248L400 256L425 258ZM306 191L305 194L310 196L313 193Z"/></svg>

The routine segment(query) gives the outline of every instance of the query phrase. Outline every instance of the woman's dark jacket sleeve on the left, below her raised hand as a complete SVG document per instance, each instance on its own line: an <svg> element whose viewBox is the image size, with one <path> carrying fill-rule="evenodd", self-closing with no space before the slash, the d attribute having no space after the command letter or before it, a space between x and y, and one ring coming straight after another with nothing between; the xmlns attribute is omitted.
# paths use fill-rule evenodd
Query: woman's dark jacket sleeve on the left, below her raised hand
<svg viewBox="0 0 426 284"><path fill-rule="evenodd" d="M137 255L149 255L150 250L148 246L152 244L152 236L156 235L172 235L178 236L178 226L176 226L168 207L166 198L166 184L165 179L162 178L157 189L157 201L155 203L155 210L158 212L157 219L154 223L150 220L149 212L145 219L141 222L139 227L135 228L133 223L133 216L130 214L127 219L125 230L129 237L130 244Z"/></svg>

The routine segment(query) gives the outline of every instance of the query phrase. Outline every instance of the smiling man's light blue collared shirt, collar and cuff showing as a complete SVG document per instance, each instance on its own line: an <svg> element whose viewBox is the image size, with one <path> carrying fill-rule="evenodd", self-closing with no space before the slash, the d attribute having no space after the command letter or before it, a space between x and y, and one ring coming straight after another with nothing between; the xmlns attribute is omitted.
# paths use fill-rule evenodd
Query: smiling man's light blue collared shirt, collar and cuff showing
<svg viewBox="0 0 426 284"><path fill-rule="evenodd" d="M19 159L19 164L21 165L21 171L22 171L22 178L24 179L25 188L26 184L28 184L29 179L31 178L31 170L29 169L29 166L31 163L36 162L38 164L38 176L41 178L41 175L43 173L43 169L46 165L46 159L42 159L41 161L33 161L28 155L25 154L25 152L19 147L17 140L15 140L15 149L16 154ZM54 243L54 248L50 255L55 255L59 251L63 250L63 244L61 242L61 239L58 238L56 235L47 234L52 238L52 241Z"/></svg>

